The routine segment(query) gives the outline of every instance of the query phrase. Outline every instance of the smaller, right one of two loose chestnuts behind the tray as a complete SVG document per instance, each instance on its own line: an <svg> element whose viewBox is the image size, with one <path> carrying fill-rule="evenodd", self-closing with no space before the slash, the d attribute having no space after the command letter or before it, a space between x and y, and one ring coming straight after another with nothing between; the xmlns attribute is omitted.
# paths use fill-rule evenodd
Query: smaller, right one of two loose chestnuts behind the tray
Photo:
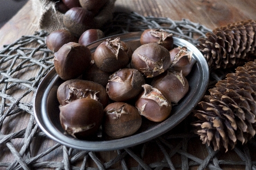
<svg viewBox="0 0 256 170"><path fill-rule="evenodd" d="M78 43L88 45L96 40L104 38L104 32L99 29L90 29L85 31L79 38Z"/></svg>

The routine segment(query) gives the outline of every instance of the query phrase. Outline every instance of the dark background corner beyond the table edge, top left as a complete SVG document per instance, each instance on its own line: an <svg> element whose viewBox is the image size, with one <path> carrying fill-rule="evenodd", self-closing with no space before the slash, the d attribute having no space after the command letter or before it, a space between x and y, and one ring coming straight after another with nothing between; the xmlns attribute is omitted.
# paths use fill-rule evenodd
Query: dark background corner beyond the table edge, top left
<svg viewBox="0 0 256 170"><path fill-rule="evenodd" d="M0 0L0 28L29 0Z"/></svg>

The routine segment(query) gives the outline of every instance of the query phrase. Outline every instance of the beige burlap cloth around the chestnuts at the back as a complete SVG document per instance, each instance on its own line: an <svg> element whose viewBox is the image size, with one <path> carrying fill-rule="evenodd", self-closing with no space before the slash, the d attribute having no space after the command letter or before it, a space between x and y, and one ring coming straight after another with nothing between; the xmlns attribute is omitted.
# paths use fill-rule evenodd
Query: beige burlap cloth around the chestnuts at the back
<svg viewBox="0 0 256 170"><path fill-rule="evenodd" d="M52 31L66 28L63 23L64 14L55 8L55 3L50 0L31 0L35 15L38 16L37 25L41 30ZM96 28L101 28L113 18L113 9L116 0L109 0L108 4L95 16Z"/></svg>

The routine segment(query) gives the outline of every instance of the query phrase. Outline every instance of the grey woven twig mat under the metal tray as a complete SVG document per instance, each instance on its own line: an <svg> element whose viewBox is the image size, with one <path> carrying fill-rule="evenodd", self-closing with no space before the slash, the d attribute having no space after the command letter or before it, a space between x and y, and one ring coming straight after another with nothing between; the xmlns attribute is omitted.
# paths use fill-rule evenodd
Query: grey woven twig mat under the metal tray
<svg viewBox="0 0 256 170"><path fill-rule="evenodd" d="M195 45L199 38L210 31L186 19L174 21L169 18L145 17L136 13L118 13L115 14L113 23L106 27L105 33L114 35L143 31L147 28L163 28ZM256 161L253 161L256 142L253 139L243 146L238 144L234 150L226 153L238 155L241 157L240 160L224 160L224 151L213 151L211 147L201 144L199 137L193 134L189 124L191 118L186 118L172 131L147 143L123 150L103 152L112 154L109 156L110 160L103 160L101 152L74 150L48 139L35 122L32 103L39 82L54 67L53 53L45 44L46 35L47 32L40 31L34 35L22 36L14 43L5 45L0 51L0 169L161 170L222 169L235 166L256 169ZM15 125L23 125L24 128L9 129ZM51 146L45 146L46 141L48 144L51 143ZM195 146L195 143L201 145ZM197 157L194 156L196 153L190 153L193 147L206 148L208 152L204 153L205 157ZM160 160L152 156L153 148L159 153L157 157L162 157ZM61 157L62 161L56 161L56 155Z"/></svg>

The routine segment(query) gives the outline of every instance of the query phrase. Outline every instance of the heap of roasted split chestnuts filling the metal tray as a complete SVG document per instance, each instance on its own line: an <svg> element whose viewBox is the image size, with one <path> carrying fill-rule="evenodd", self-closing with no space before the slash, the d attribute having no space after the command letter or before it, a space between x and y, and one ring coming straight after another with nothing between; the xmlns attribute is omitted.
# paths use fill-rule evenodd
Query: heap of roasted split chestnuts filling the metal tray
<svg viewBox="0 0 256 170"><path fill-rule="evenodd" d="M102 129L107 138L122 138L135 134L144 118L162 122L170 116L189 91L186 76L196 60L163 30L145 30L140 44L133 51L115 38L94 53L79 42L54 49L55 70L65 80L57 98L67 134L87 140Z"/></svg>

